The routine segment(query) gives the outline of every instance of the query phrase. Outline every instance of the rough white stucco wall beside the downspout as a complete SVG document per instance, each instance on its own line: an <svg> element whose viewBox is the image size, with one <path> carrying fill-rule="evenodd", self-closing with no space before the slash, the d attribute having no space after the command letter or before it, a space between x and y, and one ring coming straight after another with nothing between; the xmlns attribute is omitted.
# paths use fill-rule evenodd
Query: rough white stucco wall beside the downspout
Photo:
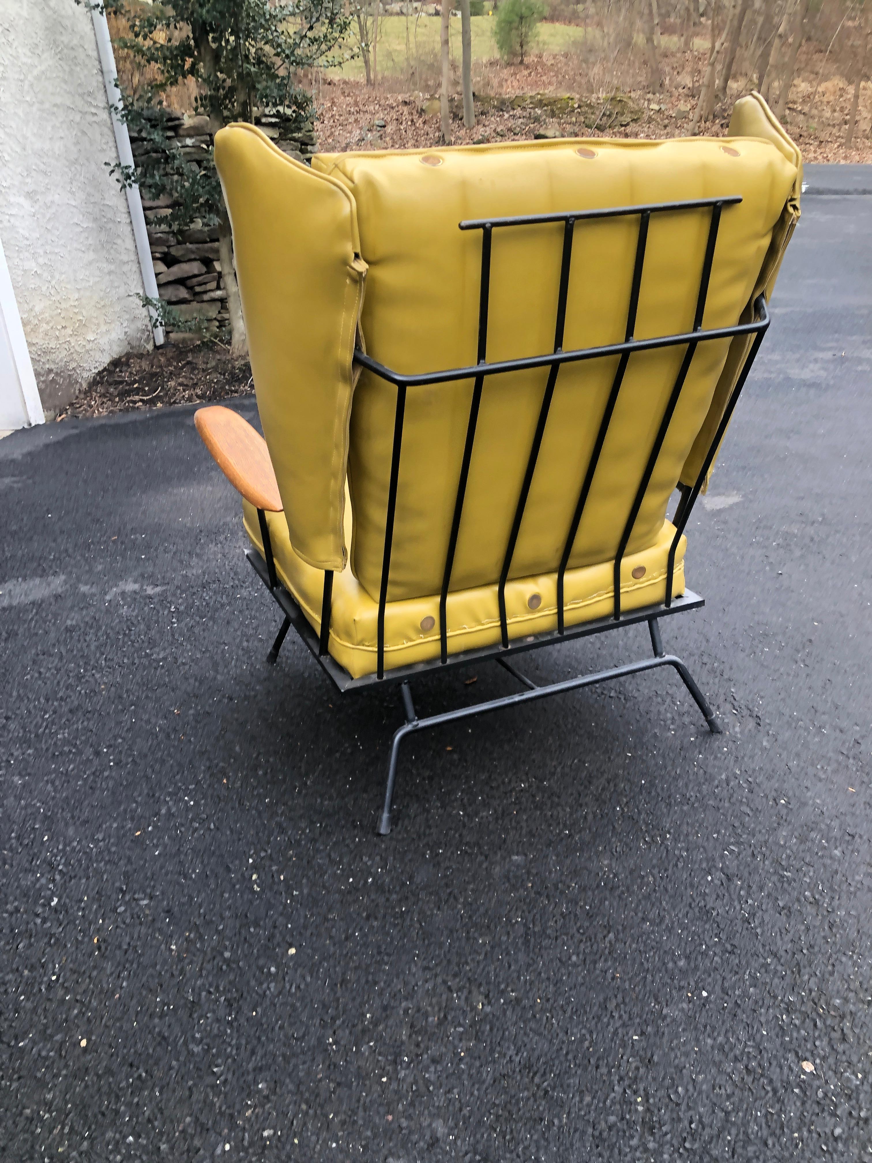
<svg viewBox="0 0 872 1163"><path fill-rule="evenodd" d="M43 406L152 345L91 15L0 0L0 238Z"/></svg>

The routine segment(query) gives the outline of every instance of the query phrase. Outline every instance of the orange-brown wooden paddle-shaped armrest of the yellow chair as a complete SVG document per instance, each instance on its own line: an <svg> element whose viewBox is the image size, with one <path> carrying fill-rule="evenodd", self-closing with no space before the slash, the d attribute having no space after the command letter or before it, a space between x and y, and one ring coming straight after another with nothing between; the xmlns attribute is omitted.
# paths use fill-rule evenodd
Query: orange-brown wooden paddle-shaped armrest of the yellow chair
<svg viewBox="0 0 872 1163"><path fill-rule="evenodd" d="M281 497L266 441L248 420L214 405L194 413L202 442L234 488L255 508L280 513Z"/></svg>

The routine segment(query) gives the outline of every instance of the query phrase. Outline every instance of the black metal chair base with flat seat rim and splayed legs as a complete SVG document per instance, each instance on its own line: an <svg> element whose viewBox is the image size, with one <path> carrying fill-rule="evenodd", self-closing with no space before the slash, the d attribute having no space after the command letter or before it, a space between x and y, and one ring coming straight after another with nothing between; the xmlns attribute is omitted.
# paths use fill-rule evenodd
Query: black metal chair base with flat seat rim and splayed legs
<svg viewBox="0 0 872 1163"><path fill-rule="evenodd" d="M673 598L671 605L669 606L645 606L642 609L622 613L617 619L600 618L595 621L569 627L563 634L559 634L557 630L549 630L544 634L529 635L524 638L512 641L508 647L502 647L498 643L493 647L485 647L477 650L465 650L462 654L450 655L445 663L443 663L439 658L434 658L429 662L415 663L410 666L398 666L395 670L386 671L384 678L378 678L376 675L365 675L360 678L352 678L344 666L341 666L335 658L331 658L330 655L322 652L319 635L310 626L293 595L281 585L280 582L277 580L274 585L270 584L266 562L263 557L260 557L255 549L246 550L245 556L285 615L285 620L267 656L269 662L274 663L277 661L281 644L285 641L285 636L293 626L303 643L308 647L310 654L315 657L321 669L339 693L344 694L348 691L363 690L364 687L371 686L385 686L392 683L400 684L400 692L402 694L403 708L406 712L406 722L401 727L398 727L391 742L391 758L388 762L385 802L377 828L378 834L381 836L386 836L391 832L391 809L393 804L394 784L396 782L396 765L400 744L407 735L410 735L414 732L424 730L430 727L441 727L444 723L455 722L460 719L471 719L474 715L484 715L491 711L502 711L507 707L517 706L522 702L533 702L537 699L544 699L552 694L565 694L569 691L578 691L581 690L581 687L593 686L596 683L607 683L612 679L624 678L628 675L638 675L642 671L656 670L660 666L671 666L678 672L694 702L700 708L700 712L708 723L709 730L713 734L719 734L721 730L714 711L708 705L706 697L694 682L687 666L676 655L667 655L665 652L663 648L663 640L660 638L660 618L679 614L689 609L700 609L705 606L705 599L700 598L699 594L695 594L689 590L686 590L680 598ZM606 630L620 629L624 626L637 626L641 622L648 623L653 656L642 658L638 662L627 663L623 666L613 666L609 670L601 670L591 675L579 675L576 678L569 678L559 683L549 683L546 685L538 686L531 679L527 678L527 676L517 671L508 661L510 655L536 650L539 647L556 645L559 642L566 642L572 638L588 637L592 634L602 634ZM503 695L499 699L489 699L485 702L477 702L470 707L457 707L455 711L448 711L443 714L419 718L414 702L412 701L412 691L409 688L409 682L413 678L435 670L445 670L450 666L469 665L470 663L485 662L488 659L492 659L507 670L514 678L517 679L519 683L521 683L524 690L519 691L515 694Z"/></svg>

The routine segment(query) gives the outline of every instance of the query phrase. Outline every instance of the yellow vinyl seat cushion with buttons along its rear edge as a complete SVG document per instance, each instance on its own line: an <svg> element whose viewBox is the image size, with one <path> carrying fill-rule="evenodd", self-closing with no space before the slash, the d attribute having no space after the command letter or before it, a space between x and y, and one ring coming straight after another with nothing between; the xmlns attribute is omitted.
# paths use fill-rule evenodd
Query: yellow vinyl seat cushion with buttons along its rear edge
<svg viewBox="0 0 872 1163"><path fill-rule="evenodd" d="M243 521L252 545L263 556L257 509L243 501ZM345 506L350 523L351 506ZM284 513L267 513L276 571L315 630L321 630L321 599L324 575L313 569L293 548ZM621 563L621 609L639 609L665 599L666 558L674 526L664 521L653 544L629 554ZM346 538L350 529L346 528ZM684 556L686 538L676 554L673 593L685 591ZM614 606L613 562L567 570L564 580L565 625L607 618ZM557 628L557 575L542 573L515 578L506 585L509 638L543 634ZM448 595L448 650L460 654L500 641L500 614L496 585L456 590ZM385 669L407 666L439 656L439 598L408 598L391 601L385 608ZM378 602L364 590L346 565L334 576L330 655L351 675L360 678L376 672Z"/></svg>

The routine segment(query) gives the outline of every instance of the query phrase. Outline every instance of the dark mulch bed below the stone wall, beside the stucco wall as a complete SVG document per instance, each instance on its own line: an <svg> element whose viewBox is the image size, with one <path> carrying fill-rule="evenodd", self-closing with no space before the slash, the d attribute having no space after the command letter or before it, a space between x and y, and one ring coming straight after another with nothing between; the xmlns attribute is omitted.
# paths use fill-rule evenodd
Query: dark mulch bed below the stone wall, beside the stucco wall
<svg viewBox="0 0 872 1163"><path fill-rule="evenodd" d="M58 420L163 408L171 404L208 404L251 391L248 359L233 359L221 344L165 344L153 351L113 359Z"/></svg>

